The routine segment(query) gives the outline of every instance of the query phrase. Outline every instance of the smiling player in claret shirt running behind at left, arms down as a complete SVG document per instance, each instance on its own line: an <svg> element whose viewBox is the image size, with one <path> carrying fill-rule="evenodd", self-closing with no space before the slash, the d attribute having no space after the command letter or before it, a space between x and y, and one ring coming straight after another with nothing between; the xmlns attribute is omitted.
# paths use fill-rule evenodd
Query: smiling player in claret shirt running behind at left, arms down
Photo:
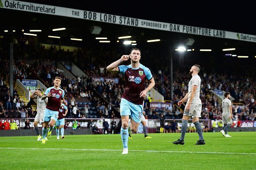
<svg viewBox="0 0 256 170"><path fill-rule="evenodd" d="M47 88L47 90L44 92L44 95L42 97L43 100L46 99L46 97L48 97L48 103L44 111L44 127L43 127L42 144L44 144L46 141L45 140L46 135L48 138L51 137L54 124L58 118L61 100L64 100L64 90L59 88L61 83L61 78L55 77L53 83L54 83L54 86ZM66 104L65 100L64 100L64 103ZM50 124L50 128L47 134L48 124Z"/></svg>

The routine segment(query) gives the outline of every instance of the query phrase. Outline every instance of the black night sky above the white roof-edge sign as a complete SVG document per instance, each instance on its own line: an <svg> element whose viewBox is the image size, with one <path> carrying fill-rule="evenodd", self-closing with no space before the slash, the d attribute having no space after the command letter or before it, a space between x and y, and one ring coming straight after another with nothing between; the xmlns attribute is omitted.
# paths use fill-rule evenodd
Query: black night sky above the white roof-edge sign
<svg viewBox="0 0 256 170"><path fill-rule="evenodd" d="M185 24L256 35L256 2L196 0L24 0L152 21Z"/></svg>

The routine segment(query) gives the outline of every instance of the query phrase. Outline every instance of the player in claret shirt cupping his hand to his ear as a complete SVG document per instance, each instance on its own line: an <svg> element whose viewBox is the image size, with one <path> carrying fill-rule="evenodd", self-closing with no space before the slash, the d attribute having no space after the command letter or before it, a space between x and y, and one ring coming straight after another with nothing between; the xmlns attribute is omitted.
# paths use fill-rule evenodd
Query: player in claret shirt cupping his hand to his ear
<svg viewBox="0 0 256 170"><path fill-rule="evenodd" d="M110 64L106 69L111 73L122 73L125 78L125 91L122 94L120 103L120 115L122 120L121 138L123 143L122 154L128 154L128 127L129 116L131 116L131 131L136 132L140 124L143 112L144 97L150 91L155 81L150 70L140 64L140 49L131 49L130 55L122 55L118 60ZM123 62L131 58L131 64L128 66L121 65ZM150 83L145 88L145 82Z"/></svg>

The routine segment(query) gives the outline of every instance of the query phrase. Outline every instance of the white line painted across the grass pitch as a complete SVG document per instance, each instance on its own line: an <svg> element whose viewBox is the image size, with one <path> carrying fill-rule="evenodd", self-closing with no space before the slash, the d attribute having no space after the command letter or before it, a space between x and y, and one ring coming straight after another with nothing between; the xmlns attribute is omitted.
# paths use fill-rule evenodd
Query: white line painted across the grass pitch
<svg viewBox="0 0 256 170"><path fill-rule="evenodd" d="M72 151L122 151L117 149L67 149L67 148L0 148L0 149L31 149L31 150L72 150ZM193 152L193 151L151 151L151 150L129 150L131 152L166 152L166 153L201 153L201 154L234 154L234 155L256 155L256 153L235 152Z"/></svg>

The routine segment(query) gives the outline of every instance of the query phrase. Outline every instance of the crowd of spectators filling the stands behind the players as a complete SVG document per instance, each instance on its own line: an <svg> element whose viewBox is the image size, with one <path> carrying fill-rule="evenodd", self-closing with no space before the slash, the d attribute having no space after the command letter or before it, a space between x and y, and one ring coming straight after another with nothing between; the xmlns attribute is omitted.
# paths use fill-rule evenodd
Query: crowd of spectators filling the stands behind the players
<svg viewBox="0 0 256 170"><path fill-rule="evenodd" d="M98 47L90 49L81 48L70 52L69 50L58 50L56 46L45 48L45 46L42 46L41 44L35 44L32 38L24 37L19 38L19 40L15 40L14 49L15 59L13 72L15 79L37 79L40 77L48 85L51 85L55 76L61 76L62 88L66 92L66 96L70 98L84 97L91 100L97 110L98 117L111 118L114 116L112 114L112 108L119 110L122 93L124 91L122 75L109 73L105 69L108 64L116 61L123 55L120 52L117 52L116 49ZM6 54L7 52L1 48L0 55L4 56ZM169 88L169 64L168 62L162 62L165 60L166 54L164 52L159 52L159 50L156 49L152 49L151 51L150 49L144 49L142 50L142 56L151 58L148 60L142 57L141 63L150 68L156 82L154 88L165 97L165 100L171 100ZM156 56L157 60L154 60L153 58ZM43 60L38 60L38 58ZM54 61L49 60L51 58L72 61L89 77L87 78L83 76L76 77L76 79L70 79L70 77L63 75L62 70L56 67L56 63L54 63ZM168 59L166 60L168 61ZM202 63L203 61L200 62ZM167 118L182 117L182 111L175 107L174 104L187 93L187 84L191 78L188 74L189 67L191 67L189 64L194 63L194 61L192 62L192 59L188 59L187 64L184 64L184 62L181 62L176 56L174 57L174 63L176 69L173 72L174 97L171 101L172 107L164 109L150 107L150 102L146 99L144 109L148 118L158 118L161 114ZM241 103L240 105L235 104L233 106L233 112L234 115L236 115L234 116L234 119L256 120L256 103L254 99L256 95L255 76L250 74L240 75L237 74L237 72L231 71L224 72L221 69L212 69L214 70L213 73L212 70L208 68L209 64L202 64L202 71L199 73L201 77L200 98L202 100L203 108L202 118L212 120L221 119L221 104L218 102L217 97L213 95L211 90L224 90L230 92L231 96L234 97L233 103ZM8 73L9 63L6 58L1 59L0 66L0 68ZM250 68L248 67L248 69ZM94 82L91 77L95 76L118 78L119 83L114 81L108 82L106 79ZM94 88L103 99L107 100L107 103L96 97L94 92L88 89L87 85ZM8 101L6 101L5 104L6 110L9 109ZM74 112L73 109L76 106L72 105L71 107L71 112ZM77 112L75 111L77 114L71 113L70 116L78 117L78 115L80 115L80 117L86 117L86 113L82 112L79 114L80 111L77 109ZM21 112L23 111L21 110ZM28 116L29 115L30 114L28 113Z"/></svg>

